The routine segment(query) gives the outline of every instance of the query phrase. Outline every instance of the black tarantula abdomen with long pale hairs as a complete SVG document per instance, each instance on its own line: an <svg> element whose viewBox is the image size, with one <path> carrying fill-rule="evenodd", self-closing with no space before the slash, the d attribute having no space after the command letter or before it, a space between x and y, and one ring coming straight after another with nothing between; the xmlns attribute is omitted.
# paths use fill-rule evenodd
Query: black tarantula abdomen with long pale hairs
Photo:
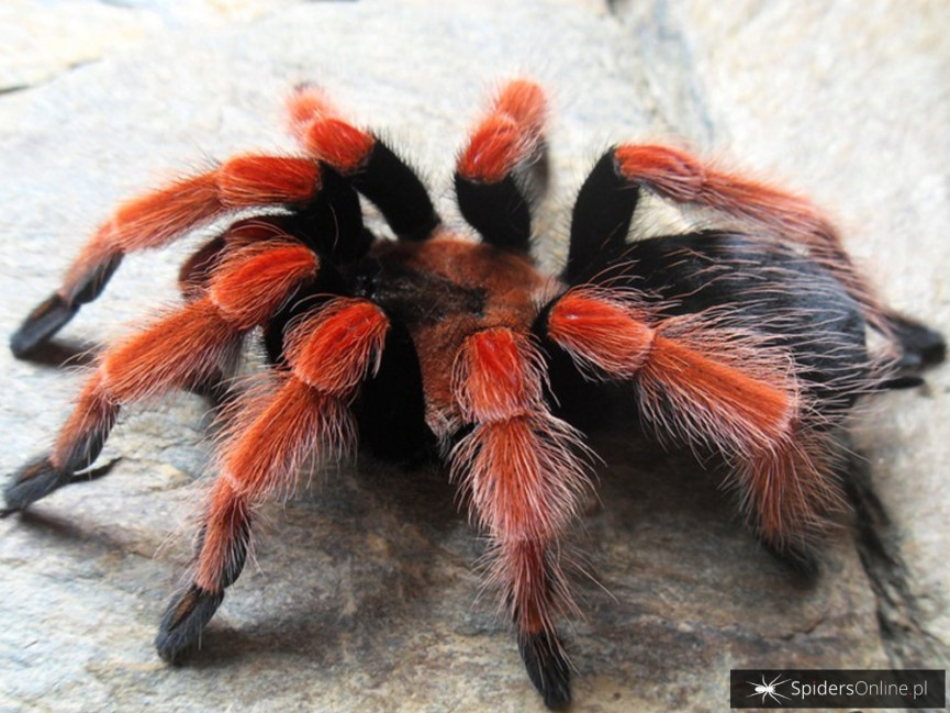
<svg viewBox="0 0 950 713"><path fill-rule="evenodd" d="M763 335L794 359L823 411L847 410L870 388L875 368L860 305L830 271L787 246L722 231L666 235L629 244L605 260L600 279L644 291L663 315L709 312Z"/></svg>

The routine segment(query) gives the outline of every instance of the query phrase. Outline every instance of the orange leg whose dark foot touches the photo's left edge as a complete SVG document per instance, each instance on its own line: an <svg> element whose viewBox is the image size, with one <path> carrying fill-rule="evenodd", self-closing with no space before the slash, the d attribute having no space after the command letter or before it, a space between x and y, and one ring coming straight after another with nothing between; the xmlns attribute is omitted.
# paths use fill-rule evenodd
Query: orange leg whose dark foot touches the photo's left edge
<svg viewBox="0 0 950 713"><path fill-rule="evenodd" d="M228 372L244 335L316 272L316 256L292 243L252 245L223 258L203 297L102 354L53 450L21 468L7 487L8 508L26 508L91 465L122 404Z"/></svg>

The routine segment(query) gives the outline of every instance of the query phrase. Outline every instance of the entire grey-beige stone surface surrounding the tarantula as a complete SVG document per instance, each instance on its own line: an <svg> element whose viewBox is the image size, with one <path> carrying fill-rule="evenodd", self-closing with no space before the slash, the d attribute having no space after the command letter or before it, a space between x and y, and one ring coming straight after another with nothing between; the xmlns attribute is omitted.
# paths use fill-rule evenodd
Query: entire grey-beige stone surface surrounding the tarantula
<svg viewBox="0 0 950 713"><path fill-rule="evenodd" d="M604 146L683 136L831 207L887 298L950 332L950 13L722 4L4 9L0 21L27 41L0 59L0 328L53 289L121 198L209 158L290 148L280 102L303 79L382 127L455 215L454 152L494 79L526 73L555 108L557 181L538 223L548 265ZM107 14L132 35L118 48L104 33L85 54L31 41L37 25L89 37ZM64 355L172 301L186 247L126 260L46 363L0 354L3 472L68 413L80 377L60 367ZM861 420L883 510L863 498L874 527L832 532L812 586L742 530L715 474L622 428L595 436L603 504L591 504L578 541L602 587L581 582L585 616L569 632L575 710L725 710L739 666L946 666L948 370L928 380ZM203 649L164 666L150 642L189 555L205 411L192 396L135 410L103 455L122 457L108 478L0 523L0 710L541 710L493 603L476 599L480 546L445 475L367 458L269 506L257 564Z"/></svg>

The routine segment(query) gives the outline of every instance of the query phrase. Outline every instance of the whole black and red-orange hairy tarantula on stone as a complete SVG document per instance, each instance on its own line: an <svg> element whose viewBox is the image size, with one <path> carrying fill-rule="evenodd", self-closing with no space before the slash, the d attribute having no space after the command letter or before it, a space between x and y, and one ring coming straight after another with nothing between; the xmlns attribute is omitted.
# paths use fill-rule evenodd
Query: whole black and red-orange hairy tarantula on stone
<svg viewBox="0 0 950 713"><path fill-rule="evenodd" d="M11 339L27 355L125 253L231 216L181 268L183 304L105 349L52 450L4 490L16 511L69 483L123 404L220 385L261 335L269 387L227 410L188 583L155 642L169 661L241 573L261 499L291 489L309 456L334 463L359 442L448 465L488 534L528 676L563 706L559 539L591 487L583 412L619 397L660 439L720 456L757 535L807 557L839 500L834 435L854 401L919 383L903 369L942 357L938 334L878 303L811 202L671 147L606 152L580 189L563 271L541 274L530 208L547 104L530 81L501 89L458 158L480 242L444 225L413 170L321 90L299 87L289 109L301 155L238 156L122 204ZM646 192L731 227L629 241ZM395 239L365 227L360 196ZM891 348L869 349L869 332Z"/></svg>

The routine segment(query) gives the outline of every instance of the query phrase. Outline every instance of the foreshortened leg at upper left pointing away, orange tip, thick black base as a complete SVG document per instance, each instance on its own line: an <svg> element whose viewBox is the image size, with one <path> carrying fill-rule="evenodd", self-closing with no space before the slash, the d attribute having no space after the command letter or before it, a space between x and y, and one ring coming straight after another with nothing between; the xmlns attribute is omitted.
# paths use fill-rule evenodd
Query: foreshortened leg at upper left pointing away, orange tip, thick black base
<svg viewBox="0 0 950 713"><path fill-rule="evenodd" d="M322 89L301 85L288 110L291 132L306 153L345 176L396 237L424 241L438 227L442 221L415 171L380 137L340 118Z"/></svg>

